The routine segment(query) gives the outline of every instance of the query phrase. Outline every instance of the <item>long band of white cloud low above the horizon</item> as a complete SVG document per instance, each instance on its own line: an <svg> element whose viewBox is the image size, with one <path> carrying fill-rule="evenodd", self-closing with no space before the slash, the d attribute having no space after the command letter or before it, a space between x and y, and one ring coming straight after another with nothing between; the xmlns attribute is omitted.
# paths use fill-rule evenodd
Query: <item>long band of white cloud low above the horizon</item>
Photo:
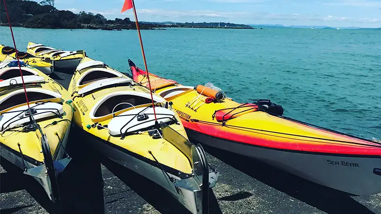
<svg viewBox="0 0 381 214"><path fill-rule="evenodd" d="M72 10L72 9L70 9ZM76 9L75 9L76 10ZM73 10L72 10L73 11ZM78 10L76 10L78 11ZM73 11L74 12L74 11ZM112 9L106 11L89 10L93 14L102 14L108 18L124 18L130 17L133 19L132 10L128 10L121 14L120 9ZM142 21L206 21L206 22L234 22L242 23L259 23L259 22L281 22L294 21L294 22L310 22L310 23L353 23L353 24L381 24L379 18L355 18L335 15L312 15L312 14L275 14L275 13L257 13L257 12L219 12L213 10L165 10L165 9L137 9L139 20ZM240 21L238 21L240 20Z"/></svg>

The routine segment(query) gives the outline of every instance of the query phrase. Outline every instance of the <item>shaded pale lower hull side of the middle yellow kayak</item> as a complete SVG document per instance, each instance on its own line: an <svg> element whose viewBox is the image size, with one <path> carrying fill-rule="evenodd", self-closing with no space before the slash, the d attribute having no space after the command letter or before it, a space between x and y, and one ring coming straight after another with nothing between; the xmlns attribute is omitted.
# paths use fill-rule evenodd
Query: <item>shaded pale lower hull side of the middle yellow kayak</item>
<svg viewBox="0 0 381 214"><path fill-rule="evenodd" d="M157 185L164 187L169 193L172 194L179 202L183 204L192 214L201 214L202 208L199 207L198 201L202 201L202 191L189 191L183 188L179 188L171 184L167 175L158 167L153 166L137 157L133 157L121 149L118 146L112 145L104 140L101 140L91 134L86 134L87 138L91 141L91 144L103 155L114 162L137 172L138 174L148 178ZM134 155L135 156L135 155ZM168 172L168 175L175 180L180 178ZM208 188L203 190L208 191ZM170 204L168 204L170 206Z"/></svg>

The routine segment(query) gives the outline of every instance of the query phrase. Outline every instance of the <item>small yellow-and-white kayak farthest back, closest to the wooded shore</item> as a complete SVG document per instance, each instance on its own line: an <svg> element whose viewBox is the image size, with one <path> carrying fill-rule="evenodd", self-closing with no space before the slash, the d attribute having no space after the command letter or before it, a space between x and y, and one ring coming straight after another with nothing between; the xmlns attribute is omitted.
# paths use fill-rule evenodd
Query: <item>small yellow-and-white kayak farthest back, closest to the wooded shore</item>
<svg viewBox="0 0 381 214"><path fill-rule="evenodd" d="M44 57L54 60L54 67L59 69L74 70L86 57L84 50L64 51L38 43L28 43L27 52L35 57Z"/></svg>

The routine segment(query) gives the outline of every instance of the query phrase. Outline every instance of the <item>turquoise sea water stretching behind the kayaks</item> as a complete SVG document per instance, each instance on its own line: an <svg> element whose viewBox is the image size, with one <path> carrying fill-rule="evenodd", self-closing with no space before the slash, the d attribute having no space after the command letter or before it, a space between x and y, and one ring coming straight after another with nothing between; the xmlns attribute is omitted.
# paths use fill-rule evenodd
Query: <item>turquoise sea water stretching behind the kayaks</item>
<svg viewBox="0 0 381 214"><path fill-rule="evenodd" d="M135 30L14 28L28 41L85 49L120 71L143 68ZM0 28L11 45L9 28ZM329 29L167 29L142 31L150 72L183 85L212 82L239 102L271 99L285 115L381 139L381 31Z"/></svg>

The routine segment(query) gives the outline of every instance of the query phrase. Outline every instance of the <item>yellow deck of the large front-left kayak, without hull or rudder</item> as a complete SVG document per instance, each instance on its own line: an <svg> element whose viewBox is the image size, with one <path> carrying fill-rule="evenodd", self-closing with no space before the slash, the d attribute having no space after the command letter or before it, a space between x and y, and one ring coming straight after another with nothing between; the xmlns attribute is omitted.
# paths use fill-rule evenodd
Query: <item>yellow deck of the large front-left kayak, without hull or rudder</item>
<svg viewBox="0 0 381 214"><path fill-rule="evenodd" d="M60 116L44 117L37 120L37 124L40 126L43 133L46 134L46 137L50 146L50 151L51 151L52 157L54 158L56 149L58 149L58 144L64 138L71 124L70 121L72 120L73 109L69 103L66 103L66 101L70 99L70 96L68 92L59 83L57 83L50 77L46 76L41 71L38 71L37 69L30 69L30 70L37 73L38 76L44 78L44 82L26 84L27 94L28 94L31 108L33 108L32 106L36 106L38 103L52 102L52 103L58 103L59 105L62 106L62 109L63 109L63 113ZM12 68L12 70L7 72L19 72L19 68L14 67ZM3 75L5 74L3 73ZM26 75L26 73L24 73L24 75ZM27 80L28 77L30 76L24 76L24 79ZM46 96L46 95L40 94L39 91L51 91L53 94L57 94L59 96L57 97ZM10 98L7 98L10 95L12 96ZM14 111L15 109L19 109L22 107L25 107L27 109L24 89L22 85L20 84L8 86L8 87L1 87L0 101L1 101L0 104L3 104L0 106L0 107L3 107L3 108L0 108L0 116L3 116L1 117L2 119L4 119L6 114L11 114L12 111ZM55 109L52 109L51 111L56 112ZM57 123L55 121L57 121ZM40 135L36 133L38 130L23 132L22 131L23 128L25 127L24 126L15 127L15 128L12 128L11 130L1 131L1 134L0 134L1 145L7 147L8 149L14 150L13 152L16 152L16 153L19 153L21 148L21 151L24 156L30 157L33 161L39 161L40 163L42 163L44 161L44 156L41 153L42 151L41 141L38 137ZM20 144L20 148L18 144ZM37 163L38 162L36 162L35 164Z"/></svg>

